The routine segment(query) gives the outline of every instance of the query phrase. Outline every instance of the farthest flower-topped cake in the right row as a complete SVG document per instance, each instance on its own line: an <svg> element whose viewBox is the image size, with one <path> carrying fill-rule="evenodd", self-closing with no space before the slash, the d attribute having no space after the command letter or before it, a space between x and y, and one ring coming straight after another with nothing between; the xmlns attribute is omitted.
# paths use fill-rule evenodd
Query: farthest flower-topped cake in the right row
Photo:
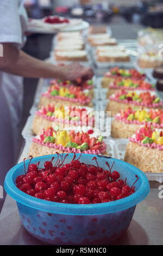
<svg viewBox="0 0 163 256"><path fill-rule="evenodd" d="M114 82L116 78L131 78L134 80L144 80L146 75L136 69L120 69L118 67L110 69L105 73L102 80L102 87L108 88L109 83Z"/></svg>

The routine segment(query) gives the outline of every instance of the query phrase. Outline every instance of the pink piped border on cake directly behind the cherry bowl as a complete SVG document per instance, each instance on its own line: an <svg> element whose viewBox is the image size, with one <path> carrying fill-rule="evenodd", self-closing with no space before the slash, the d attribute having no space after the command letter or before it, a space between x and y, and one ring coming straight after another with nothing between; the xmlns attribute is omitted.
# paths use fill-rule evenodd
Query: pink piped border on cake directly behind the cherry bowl
<svg viewBox="0 0 163 256"><path fill-rule="evenodd" d="M57 145L56 143L52 143L52 142L43 143L43 141L41 141L41 139L38 139L38 138L32 138L32 141L41 146L46 146L52 149L65 150L65 152L68 152L68 153L83 153L83 154L99 155L99 154L104 154L106 151L106 144L104 142L102 143L103 147L101 148L101 150L88 149L88 150L81 151L80 149L64 147L61 144Z"/></svg>

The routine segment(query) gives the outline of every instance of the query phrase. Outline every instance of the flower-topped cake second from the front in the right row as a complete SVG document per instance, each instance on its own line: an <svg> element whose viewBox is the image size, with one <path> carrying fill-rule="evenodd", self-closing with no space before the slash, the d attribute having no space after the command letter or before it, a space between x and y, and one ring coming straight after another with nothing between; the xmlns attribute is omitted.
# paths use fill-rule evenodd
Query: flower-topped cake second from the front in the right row
<svg viewBox="0 0 163 256"><path fill-rule="evenodd" d="M163 129L163 109L137 109L131 107L121 109L114 116L111 124L111 136L114 138L129 138L137 129L144 125L150 125L157 129Z"/></svg>

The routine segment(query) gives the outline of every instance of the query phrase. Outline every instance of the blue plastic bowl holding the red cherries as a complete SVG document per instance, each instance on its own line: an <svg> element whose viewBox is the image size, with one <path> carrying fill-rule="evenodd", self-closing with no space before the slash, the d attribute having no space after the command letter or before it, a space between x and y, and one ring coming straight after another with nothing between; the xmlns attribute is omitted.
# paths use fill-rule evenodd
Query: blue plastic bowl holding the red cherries
<svg viewBox="0 0 163 256"><path fill-rule="evenodd" d="M77 154L77 157L80 154ZM57 159L57 155L54 155ZM92 164L94 155L82 154L81 162ZM65 163L69 163L73 154L69 154ZM52 155L36 157L33 163L45 161ZM107 244L121 236L129 227L137 203L140 203L149 192L149 182L141 170L129 163L117 159L98 157L100 167L108 169L105 161L114 163L113 170L118 170L121 178L127 178L131 186L135 175L139 180L135 184L135 193L114 202L99 204L64 204L54 203L29 196L15 186L18 175L24 174L23 162L12 167L4 181L5 191L17 202L18 211L24 228L43 242L53 245L99 245ZM29 160L26 161L28 167ZM95 162L93 161L93 164ZM27 168L26 168L27 169Z"/></svg>

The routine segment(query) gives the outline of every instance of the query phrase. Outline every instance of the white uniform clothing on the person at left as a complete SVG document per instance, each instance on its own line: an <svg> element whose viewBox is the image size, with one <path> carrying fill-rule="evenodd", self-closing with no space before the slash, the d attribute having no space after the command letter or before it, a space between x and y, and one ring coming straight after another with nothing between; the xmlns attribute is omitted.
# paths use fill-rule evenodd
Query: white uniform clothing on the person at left
<svg viewBox="0 0 163 256"><path fill-rule="evenodd" d="M10 42L21 48L25 42L26 25L27 14L23 0L1 0L0 44ZM13 166L17 154L22 112L22 79L0 70L0 184Z"/></svg>

